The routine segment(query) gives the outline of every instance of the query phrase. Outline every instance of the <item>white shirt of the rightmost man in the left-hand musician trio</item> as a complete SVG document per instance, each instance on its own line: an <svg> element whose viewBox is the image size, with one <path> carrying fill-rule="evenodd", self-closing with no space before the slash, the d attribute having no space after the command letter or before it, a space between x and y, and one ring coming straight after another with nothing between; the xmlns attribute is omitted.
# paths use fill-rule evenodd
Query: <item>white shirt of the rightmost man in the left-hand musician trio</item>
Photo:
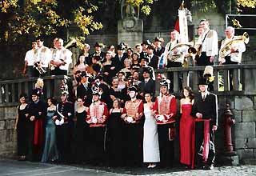
<svg viewBox="0 0 256 176"><path fill-rule="evenodd" d="M63 47L61 50L58 50L58 49L53 50L52 60L66 62L64 66L59 66L59 69L68 70L70 63L72 62L71 56L72 56L72 52Z"/></svg>

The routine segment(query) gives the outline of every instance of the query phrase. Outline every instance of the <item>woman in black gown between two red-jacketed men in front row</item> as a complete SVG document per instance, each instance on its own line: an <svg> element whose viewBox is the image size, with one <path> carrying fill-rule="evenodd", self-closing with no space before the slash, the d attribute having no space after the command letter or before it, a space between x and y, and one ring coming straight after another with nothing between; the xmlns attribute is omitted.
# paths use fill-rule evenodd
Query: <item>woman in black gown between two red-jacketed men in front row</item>
<svg viewBox="0 0 256 176"><path fill-rule="evenodd" d="M122 118L123 109L118 98L114 99L110 109L110 118L107 123L109 137L108 154L110 166L122 166Z"/></svg>

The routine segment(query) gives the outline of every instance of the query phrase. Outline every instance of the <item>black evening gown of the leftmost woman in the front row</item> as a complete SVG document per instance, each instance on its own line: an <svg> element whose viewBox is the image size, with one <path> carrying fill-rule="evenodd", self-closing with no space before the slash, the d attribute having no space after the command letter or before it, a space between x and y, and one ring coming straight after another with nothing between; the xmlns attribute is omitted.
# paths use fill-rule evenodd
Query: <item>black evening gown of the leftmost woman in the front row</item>
<svg viewBox="0 0 256 176"><path fill-rule="evenodd" d="M28 105L26 105L26 107L23 110L21 110L20 106L18 106L17 145L19 156L25 156L27 154L28 148L28 119L26 118L25 114L28 114Z"/></svg>

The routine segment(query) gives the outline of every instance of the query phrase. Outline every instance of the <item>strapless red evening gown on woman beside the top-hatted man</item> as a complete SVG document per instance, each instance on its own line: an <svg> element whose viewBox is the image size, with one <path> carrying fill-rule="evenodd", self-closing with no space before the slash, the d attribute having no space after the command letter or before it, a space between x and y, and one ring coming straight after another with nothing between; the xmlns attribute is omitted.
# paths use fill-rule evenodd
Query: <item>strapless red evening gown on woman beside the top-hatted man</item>
<svg viewBox="0 0 256 176"><path fill-rule="evenodd" d="M180 121L180 162L185 165L192 164L192 155L194 150L192 148L192 132L194 130L194 118L190 116L192 110L191 104L182 105L182 117Z"/></svg>

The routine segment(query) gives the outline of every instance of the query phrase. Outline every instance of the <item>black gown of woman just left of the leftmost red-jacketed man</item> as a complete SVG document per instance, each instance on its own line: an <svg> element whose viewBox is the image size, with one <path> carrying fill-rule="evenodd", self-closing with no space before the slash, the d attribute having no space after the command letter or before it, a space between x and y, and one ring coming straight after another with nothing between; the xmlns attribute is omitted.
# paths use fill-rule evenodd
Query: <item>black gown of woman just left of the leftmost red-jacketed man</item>
<svg viewBox="0 0 256 176"><path fill-rule="evenodd" d="M86 123L85 119L87 117L86 110L78 113L76 112L77 123L75 128L75 151L74 160L76 162L86 162L88 161L88 138L89 138L89 124Z"/></svg>

